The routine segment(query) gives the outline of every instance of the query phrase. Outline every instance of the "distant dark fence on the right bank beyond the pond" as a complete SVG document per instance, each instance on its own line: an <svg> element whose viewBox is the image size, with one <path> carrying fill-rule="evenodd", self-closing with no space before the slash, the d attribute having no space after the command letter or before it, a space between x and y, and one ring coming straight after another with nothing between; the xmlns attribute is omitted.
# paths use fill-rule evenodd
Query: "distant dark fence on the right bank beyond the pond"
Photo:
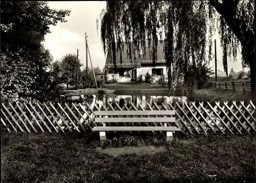
<svg viewBox="0 0 256 183"><path fill-rule="evenodd" d="M233 91L242 91L244 93L251 91L250 81L209 82L208 86L222 89L230 89Z"/></svg>

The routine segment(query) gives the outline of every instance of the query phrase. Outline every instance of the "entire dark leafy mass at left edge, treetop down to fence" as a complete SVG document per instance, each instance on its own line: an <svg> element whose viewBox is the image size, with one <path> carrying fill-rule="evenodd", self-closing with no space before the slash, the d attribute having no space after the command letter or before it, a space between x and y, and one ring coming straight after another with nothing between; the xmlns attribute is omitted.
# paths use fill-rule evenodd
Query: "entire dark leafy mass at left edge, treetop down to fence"
<svg viewBox="0 0 256 183"><path fill-rule="evenodd" d="M1 97L44 100L56 89L47 72L52 56L41 42L69 13L46 2L1 2Z"/></svg>

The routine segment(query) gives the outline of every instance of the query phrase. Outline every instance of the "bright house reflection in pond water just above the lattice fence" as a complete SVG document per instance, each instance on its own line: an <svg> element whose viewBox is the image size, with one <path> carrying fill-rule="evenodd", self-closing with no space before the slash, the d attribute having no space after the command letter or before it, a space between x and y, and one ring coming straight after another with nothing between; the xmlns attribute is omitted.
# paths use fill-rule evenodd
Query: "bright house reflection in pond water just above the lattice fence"
<svg viewBox="0 0 256 183"><path fill-rule="evenodd" d="M83 97L84 102L88 102L90 107L93 107L96 103L98 107L102 105L109 107L109 103L112 104L112 107L116 107L116 103L123 108L124 104L127 107L130 107L132 103L138 107L139 104L142 105L143 108L147 106L147 103L150 106L153 106L156 103L158 106L162 105L162 103L167 106L168 103L175 104L176 102L183 106L185 102L189 102L186 97L167 97L167 96L125 96L125 95L87 95Z"/></svg>

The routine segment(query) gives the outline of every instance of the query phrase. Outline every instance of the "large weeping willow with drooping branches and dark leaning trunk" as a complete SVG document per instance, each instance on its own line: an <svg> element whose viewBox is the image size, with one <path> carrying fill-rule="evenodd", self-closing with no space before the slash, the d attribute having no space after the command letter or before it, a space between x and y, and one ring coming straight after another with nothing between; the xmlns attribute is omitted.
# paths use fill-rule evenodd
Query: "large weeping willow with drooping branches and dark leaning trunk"
<svg viewBox="0 0 256 183"><path fill-rule="evenodd" d="M104 53L112 57L114 65L116 53L122 53L124 44L131 57L139 48L145 48L146 42L152 48L155 65L157 44L164 41L169 88L179 77L184 77L187 88L187 73L191 72L188 65L196 73L197 66L212 59L212 36L217 28L224 71L227 74L227 56L236 60L241 51L242 65L250 67L251 89L255 90L252 0L107 1L97 18L97 29L99 23Z"/></svg>

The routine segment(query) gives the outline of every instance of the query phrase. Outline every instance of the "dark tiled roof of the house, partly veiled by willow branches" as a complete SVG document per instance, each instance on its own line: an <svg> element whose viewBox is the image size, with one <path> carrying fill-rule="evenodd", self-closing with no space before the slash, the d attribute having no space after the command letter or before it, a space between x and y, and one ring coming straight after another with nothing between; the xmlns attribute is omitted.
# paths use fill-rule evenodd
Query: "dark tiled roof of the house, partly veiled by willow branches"
<svg viewBox="0 0 256 183"><path fill-rule="evenodd" d="M148 47L146 47L145 52L144 52L144 49L142 50L144 52L143 55L139 55L139 53L137 52L137 54L135 55L136 60L134 60L134 53L132 54L132 60L131 60L130 56L127 54L127 49L128 49L127 45L124 45L124 49L122 51L122 63L120 60L120 51L118 51L118 53L116 54L117 68L140 67L141 64L153 63L152 47L150 45L148 45ZM164 58L164 43L163 42L158 43L156 63L166 63L165 58ZM115 67L113 58L111 58L110 55L108 55L106 58L105 67L107 67L107 68Z"/></svg>

